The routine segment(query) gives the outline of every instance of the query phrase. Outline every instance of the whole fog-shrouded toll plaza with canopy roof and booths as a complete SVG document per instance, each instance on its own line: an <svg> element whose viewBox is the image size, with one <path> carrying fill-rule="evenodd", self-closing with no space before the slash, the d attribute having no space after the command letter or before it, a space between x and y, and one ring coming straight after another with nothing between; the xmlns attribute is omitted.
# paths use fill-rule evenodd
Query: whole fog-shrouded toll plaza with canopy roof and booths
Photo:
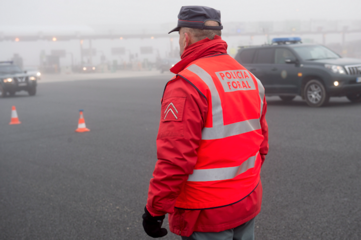
<svg viewBox="0 0 361 240"><path fill-rule="evenodd" d="M316 41L326 45L326 42L335 42L335 46L328 46L344 57L361 58L358 42L350 45L350 39L361 36L361 21L280 21L280 22L230 22L224 23L222 37L228 38L228 53L235 56L238 46L271 43L273 37L302 37L304 42L312 43ZM179 50L173 40L178 38L177 34L167 34L169 24L159 25L91 25L91 26L0 26L0 46L2 43L39 43L40 46L47 46L51 42L69 42L69 47L51 47L44 50L39 49L41 70L48 73L66 72L91 72L106 68L106 71L117 69L147 69L156 65L158 68L162 60L179 58ZM230 38L233 40L230 41ZM338 40L335 40L335 39ZM247 40L246 40L247 39ZM106 41L99 46L96 42ZM111 46L111 40L127 40L122 44ZM137 45L136 41L139 42ZM109 42L107 42L109 41ZM152 41L153 43L149 42ZM177 41L177 40L175 40ZM114 42L115 43L115 42ZM120 42L119 42L120 43ZM350 46L346 47L346 43ZM72 50L70 45L72 45ZM136 45L138 48L131 48ZM157 45L157 46L156 46ZM50 46L49 46L50 47ZM140 48L139 48L140 47ZM46 47L45 47L46 49ZM78 50L79 49L79 50ZM50 50L50 51L49 51ZM3 50L3 52L6 50ZM36 65L38 58L23 56L21 50L11 53L18 54L24 58L24 65ZM10 59L10 52L2 53L1 60ZM33 51L34 52L34 51ZM49 53L48 53L49 52ZM96 54L100 56L95 59ZM352 56L351 56L352 55ZM34 54L33 54L34 56ZM37 56L39 56L37 54ZM31 57L31 58L29 58ZM60 58L68 58L64 64ZM70 65L71 58L71 65ZM17 61L16 61L17 62ZM29 64L30 62L30 64ZM106 63L107 62L107 63ZM98 64L100 63L100 64ZM62 65L62 67L60 67ZM95 68L95 69L94 69Z"/></svg>

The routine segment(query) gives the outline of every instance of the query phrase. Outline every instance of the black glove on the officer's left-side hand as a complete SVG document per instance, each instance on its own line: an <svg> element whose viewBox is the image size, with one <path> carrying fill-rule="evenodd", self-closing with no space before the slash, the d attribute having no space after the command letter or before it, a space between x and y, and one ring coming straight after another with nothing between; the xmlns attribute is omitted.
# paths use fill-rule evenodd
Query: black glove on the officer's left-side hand
<svg viewBox="0 0 361 240"><path fill-rule="evenodd" d="M163 224L163 219L166 215L153 217L147 210L144 208L145 214L143 214L143 228L144 231L151 236L152 238L162 238L168 234L167 229L161 228Z"/></svg>

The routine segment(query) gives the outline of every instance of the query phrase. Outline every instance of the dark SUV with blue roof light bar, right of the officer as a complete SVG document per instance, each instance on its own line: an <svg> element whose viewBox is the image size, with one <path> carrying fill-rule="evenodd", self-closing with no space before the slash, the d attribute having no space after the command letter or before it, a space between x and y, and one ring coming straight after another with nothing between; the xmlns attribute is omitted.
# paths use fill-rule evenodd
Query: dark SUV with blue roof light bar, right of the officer
<svg viewBox="0 0 361 240"><path fill-rule="evenodd" d="M311 107L330 97L361 102L361 60L342 58L300 38L275 38L271 45L241 47L235 59L261 80L267 96L292 101L297 95Z"/></svg>

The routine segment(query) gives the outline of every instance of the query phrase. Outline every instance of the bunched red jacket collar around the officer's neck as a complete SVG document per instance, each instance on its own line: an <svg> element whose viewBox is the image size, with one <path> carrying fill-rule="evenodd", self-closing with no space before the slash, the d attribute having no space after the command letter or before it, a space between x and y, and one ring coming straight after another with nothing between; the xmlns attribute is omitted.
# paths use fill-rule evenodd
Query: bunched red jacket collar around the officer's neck
<svg viewBox="0 0 361 240"><path fill-rule="evenodd" d="M219 36L215 36L213 40L209 38L200 40L189 45L181 55L181 60L171 68L171 72L178 74L194 60L212 56L214 54L226 54L227 43Z"/></svg>

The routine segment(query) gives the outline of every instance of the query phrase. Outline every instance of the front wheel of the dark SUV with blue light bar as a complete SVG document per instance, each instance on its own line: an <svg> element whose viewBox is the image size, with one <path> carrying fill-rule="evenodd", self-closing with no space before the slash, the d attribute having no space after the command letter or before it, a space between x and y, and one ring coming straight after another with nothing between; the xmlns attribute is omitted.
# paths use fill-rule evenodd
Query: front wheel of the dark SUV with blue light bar
<svg viewBox="0 0 361 240"><path fill-rule="evenodd" d="M321 107L328 103L330 95L319 80L310 80L304 88L305 100L310 107Z"/></svg>

